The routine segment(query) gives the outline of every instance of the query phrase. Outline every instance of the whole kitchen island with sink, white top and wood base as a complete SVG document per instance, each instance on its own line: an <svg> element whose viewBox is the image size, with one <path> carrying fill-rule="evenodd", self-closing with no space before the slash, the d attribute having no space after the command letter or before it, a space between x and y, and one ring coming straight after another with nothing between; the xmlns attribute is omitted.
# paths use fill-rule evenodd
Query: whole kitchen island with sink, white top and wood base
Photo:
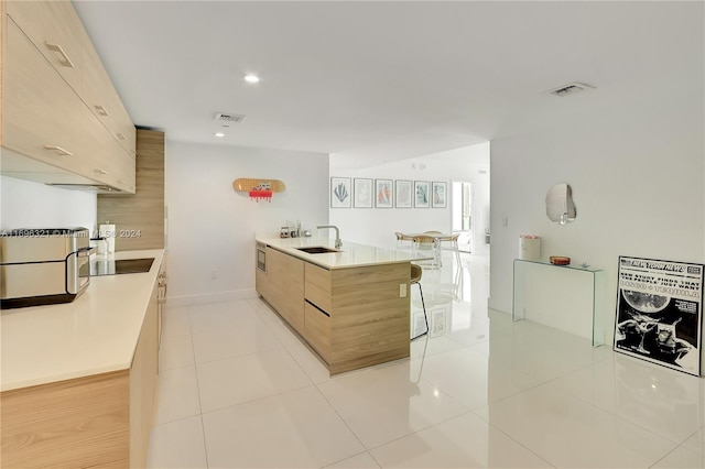
<svg viewBox="0 0 705 469"><path fill-rule="evenodd" d="M328 238L258 238L256 288L330 374L409 357L411 261Z"/></svg>

